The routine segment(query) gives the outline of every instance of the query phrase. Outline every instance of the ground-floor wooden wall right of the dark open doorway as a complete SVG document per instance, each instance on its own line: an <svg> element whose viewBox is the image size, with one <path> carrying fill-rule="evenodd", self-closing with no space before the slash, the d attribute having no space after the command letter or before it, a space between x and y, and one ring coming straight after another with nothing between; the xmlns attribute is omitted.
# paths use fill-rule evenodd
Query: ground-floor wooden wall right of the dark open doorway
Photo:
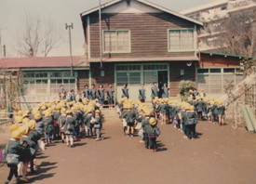
<svg viewBox="0 0 256 184"><path fill-rule="evenodd" d="M195 64L188 67L186 62L170 62L169 63L169 96L177 97L180 94L179 84L182 80L195 81ZM184 70L184 75L181 75L181 70Z"/></svg>

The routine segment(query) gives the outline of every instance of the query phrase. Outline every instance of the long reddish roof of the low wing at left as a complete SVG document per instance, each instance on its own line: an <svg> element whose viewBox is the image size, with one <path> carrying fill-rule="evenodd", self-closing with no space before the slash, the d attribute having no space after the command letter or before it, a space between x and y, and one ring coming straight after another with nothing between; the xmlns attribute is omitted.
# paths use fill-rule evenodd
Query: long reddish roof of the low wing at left
<svg viewBox="0 0 256 184"><path fill-rule="evenodd" d="M34 58L3 58L0 67L4 69L17 68L65 68L70 67L70 57L34 57ZM85 57L74 56L73 67L89 67Z"/></svg>

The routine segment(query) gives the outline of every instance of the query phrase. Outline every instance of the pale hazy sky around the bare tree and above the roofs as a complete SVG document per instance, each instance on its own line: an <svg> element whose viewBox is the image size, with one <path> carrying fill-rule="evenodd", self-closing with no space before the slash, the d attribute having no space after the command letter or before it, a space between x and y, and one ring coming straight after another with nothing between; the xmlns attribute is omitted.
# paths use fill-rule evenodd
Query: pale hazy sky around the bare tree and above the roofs
<svg viewBox="0 0 256 184"><path fill-rule="evenodd" d="M110 0L101 0L101 4ZM162 7L180 12L192 7L210 3L210 0L149 0ZM25 17L25 13L40 15L41 18L50 18L60 27L63 35L61 46L52 49L48 57L69 56L68 30L65 23L74 23L72 30L73 56L84 55L84 33L80 13L92 7L99 6L99 0L0 0L0 28L2 46L7 46L7 57L20 57L13 49L16 43L17 30Z"/></svg>

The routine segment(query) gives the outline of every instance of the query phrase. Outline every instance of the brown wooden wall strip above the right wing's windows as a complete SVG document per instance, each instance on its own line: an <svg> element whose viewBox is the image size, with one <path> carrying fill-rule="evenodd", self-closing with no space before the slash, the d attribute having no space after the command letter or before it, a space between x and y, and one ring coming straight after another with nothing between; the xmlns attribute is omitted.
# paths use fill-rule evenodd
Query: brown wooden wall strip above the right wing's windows
<svg viewBox="0 0 256 184"><path fill-rule="evenodd" d="M238 57L224 57L218 55L201 54L201 62L198 68L222 68L222 67L240 67Z"/></svg>

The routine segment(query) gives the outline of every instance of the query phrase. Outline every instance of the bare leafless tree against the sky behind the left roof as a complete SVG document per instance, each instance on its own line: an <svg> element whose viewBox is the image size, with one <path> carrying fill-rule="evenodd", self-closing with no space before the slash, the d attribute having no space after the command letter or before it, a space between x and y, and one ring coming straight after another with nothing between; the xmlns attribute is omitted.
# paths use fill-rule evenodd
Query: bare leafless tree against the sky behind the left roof
<svg viewBox="0 0 256 184"><path fill-rule="evenodd" d="M63 43L61 28L52 19L26 12L20 23L14 49L21 56L47 57L53 48Z"/></svg>

